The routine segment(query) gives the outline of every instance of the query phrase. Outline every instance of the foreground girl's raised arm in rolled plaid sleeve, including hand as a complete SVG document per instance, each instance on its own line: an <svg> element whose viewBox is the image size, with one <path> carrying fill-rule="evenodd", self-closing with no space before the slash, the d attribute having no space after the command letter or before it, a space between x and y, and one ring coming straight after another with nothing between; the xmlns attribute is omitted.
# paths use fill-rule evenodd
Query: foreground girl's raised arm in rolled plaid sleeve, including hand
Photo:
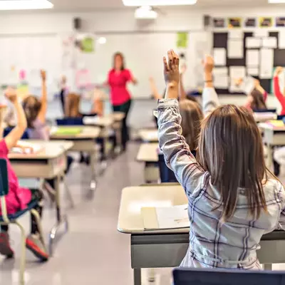
<svg viewBox="0 0 285 285"><path fill-rule="evenodd" d="M199 169L195 157L181 135L181 115L179 113L179 58L174 51L168 52L168 63L163 58L165 70L165 83L167 90L165 99L158 103L158 137L160 149L165 156L165 162L175 172L177 180L185 188L187 195L191 195L192 187L187 185L199 183L199 177L204 173Z"/></svg>

